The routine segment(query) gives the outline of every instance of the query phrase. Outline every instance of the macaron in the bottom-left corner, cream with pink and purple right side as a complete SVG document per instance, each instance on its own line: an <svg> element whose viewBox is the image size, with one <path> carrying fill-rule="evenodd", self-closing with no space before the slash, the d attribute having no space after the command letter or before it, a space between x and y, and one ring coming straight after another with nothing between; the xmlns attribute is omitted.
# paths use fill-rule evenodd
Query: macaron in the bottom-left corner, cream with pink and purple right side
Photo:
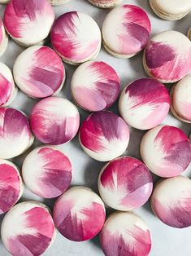
<svg viewBox="0 0 191 256"><path fill-rule="evenodd" d="M25 201L3 218L2 243L11 255L41 255L54 241L55 227L46 205Z"/></svg>

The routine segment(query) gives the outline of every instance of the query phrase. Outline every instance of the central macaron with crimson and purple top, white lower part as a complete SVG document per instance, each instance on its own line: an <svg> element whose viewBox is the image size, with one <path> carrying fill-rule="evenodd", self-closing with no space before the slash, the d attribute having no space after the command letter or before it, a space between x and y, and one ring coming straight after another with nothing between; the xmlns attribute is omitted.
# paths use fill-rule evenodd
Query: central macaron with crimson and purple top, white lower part
<svg viewBox="0 0 191 256"><path fill-rule="evenodd" d="M89 157L98 161L111 161L128 148L128 125L115 113L92 113L80 126L79 140Z"/></svg>

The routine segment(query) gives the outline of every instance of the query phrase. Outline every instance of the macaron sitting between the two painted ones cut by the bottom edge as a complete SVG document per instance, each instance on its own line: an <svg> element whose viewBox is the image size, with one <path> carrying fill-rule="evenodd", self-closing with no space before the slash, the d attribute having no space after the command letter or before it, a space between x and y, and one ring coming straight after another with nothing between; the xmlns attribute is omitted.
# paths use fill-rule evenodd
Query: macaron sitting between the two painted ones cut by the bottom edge
<svg viewBox="0 0 191 256"><path fill-rule="evenodd" d="M101 198L91 189L73 187L55 202L53 218L55 227L67 239L87 241L101 231L106 211Z"/></svg>

